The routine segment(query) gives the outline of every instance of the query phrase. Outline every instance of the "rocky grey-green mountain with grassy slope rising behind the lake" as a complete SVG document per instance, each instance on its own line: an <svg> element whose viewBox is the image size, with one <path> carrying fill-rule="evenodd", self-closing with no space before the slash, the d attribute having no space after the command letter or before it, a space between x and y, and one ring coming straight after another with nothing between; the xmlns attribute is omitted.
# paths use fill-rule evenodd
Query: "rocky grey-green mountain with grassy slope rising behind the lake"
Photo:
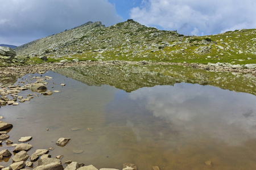
<svg viewBox="0 0 256 170"><path fill-rule="evenodd" d="M47 56L51 61L126 60L188 63L256 63L256 29L209 36L184 36L146 27L132 19L105 27L88 22L18 46L19 56Z"/></svg>

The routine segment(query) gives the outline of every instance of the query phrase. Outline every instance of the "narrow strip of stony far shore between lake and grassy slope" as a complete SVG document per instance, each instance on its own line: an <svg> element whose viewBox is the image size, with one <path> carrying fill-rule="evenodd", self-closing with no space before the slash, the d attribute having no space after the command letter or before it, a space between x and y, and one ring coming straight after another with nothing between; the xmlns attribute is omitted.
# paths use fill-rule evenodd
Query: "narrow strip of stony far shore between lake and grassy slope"
<svg viewBox="0 0 256 170"><path fill-rule="evenodd" d="M202 63L176 63L176 62L150 62L150 61L79 61L79 62L65 62L65 63L42 63L38 65L22 65L11 67L0 67L0 78L4 76L23 76L33 73L44 73L46 71L52 71L55 69L61 69L65 67L77 67L87 65L164 65L164 66L189 66L193 69L202 69L208 71L228 71L238 73L250 73L256 76L256 68L246 69L242 67L236 67L236 65L226 65L225 63L219 63L218 65L208 63L204 65Z"/></svg>

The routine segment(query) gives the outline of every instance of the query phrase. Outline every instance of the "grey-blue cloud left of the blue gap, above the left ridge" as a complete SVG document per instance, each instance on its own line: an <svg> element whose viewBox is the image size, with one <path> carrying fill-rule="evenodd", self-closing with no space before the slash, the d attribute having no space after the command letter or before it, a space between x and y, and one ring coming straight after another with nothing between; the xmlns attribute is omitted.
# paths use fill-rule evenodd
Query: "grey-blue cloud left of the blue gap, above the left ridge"
<svg viewBox="0 0 256 170"><path fill-rule="evenodd" d="M0 44L22 45L89 21L108 26L123 20L107 0L0 0L0 4Z"/></svg>

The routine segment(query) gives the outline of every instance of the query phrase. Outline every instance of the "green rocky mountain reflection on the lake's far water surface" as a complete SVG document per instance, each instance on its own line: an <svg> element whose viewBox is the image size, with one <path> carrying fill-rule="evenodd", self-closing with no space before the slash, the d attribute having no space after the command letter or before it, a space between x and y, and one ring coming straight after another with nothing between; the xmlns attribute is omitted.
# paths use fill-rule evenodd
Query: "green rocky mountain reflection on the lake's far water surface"
<svg viewBox="0 0 256 170"><path fill-rule="evenodd" d="M256 78L250 74L210 72L183 66L86 66L55 70L89 86L108 84L126 92L142 87L197 83L256 95Z"/></svg>

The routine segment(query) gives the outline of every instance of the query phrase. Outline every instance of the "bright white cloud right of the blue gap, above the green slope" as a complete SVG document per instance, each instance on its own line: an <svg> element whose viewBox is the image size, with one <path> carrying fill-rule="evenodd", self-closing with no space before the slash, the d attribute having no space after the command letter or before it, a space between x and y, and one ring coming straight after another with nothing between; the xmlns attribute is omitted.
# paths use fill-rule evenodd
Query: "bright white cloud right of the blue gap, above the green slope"
<svg viewBox="0 0 256 170"><path fill-rule="evenodd" d="M254 0L143 0L130 18L145 25L159 25L185 35L207 35L241 28L256 28Z"/></svg>

